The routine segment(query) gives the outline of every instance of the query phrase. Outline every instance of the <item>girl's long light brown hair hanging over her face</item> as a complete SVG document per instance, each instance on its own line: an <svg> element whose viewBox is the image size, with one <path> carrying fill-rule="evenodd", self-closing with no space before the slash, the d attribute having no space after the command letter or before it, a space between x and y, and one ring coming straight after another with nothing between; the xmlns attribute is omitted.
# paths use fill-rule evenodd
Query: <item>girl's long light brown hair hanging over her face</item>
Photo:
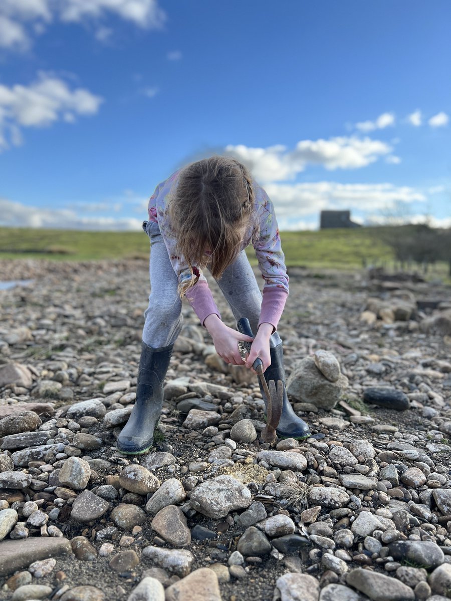
<svg viewBox="0 0 451 601"><path fill-rule="evenodd" d="M212 156L182 169L168 209L191 279L179 284L183 296L198 279L193 266L209 263L213 278L237 257L254 208L250 172L232 157ZM207 254L207 251L210 251Z"/></svg>

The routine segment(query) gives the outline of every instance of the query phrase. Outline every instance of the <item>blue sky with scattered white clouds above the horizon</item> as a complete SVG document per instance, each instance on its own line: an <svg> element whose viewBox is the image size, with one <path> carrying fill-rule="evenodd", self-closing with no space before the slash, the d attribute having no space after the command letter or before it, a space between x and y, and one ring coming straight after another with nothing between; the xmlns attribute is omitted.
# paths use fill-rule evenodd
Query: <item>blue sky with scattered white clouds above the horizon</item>
<svg viewBox="0 0 451 601"><path fill-rule="evenodd" d="M451 225L449 0L2 0L0 225L139 230L213 153L281 229Z"/></svg>

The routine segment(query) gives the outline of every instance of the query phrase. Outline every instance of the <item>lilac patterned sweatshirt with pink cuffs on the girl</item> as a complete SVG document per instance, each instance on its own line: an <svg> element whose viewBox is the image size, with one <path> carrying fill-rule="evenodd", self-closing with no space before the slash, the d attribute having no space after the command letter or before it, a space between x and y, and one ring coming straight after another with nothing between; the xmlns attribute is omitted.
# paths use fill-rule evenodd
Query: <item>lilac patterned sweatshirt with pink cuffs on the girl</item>
<svg viewBox="0 0 451 601"><path fill-rule="evenodd" d="M180 169L156 187L149 200L148 212L150 221L158 223L174 272L176 272L179 282L183 282L191 279L192 275L185 257L177 254L177 239L174 237L168 212L168 202L171 192L177 185L179 173ZM253 181L253 189L255 193L254 212L242 241L241 250L245 249L251 240L254 240L253 246L259 261L259 269L265 279L259 325L260 323L271 323L274 328L277 328L288 296L288 276L272 202L265 190L255 181ZM252 235L255 228L258 231L257 237ZM202 324L212 313L221 319L205 276L197 266L193 265L192 267L195 276L198 276L198 281L185 294L191 307Z"/></svg>

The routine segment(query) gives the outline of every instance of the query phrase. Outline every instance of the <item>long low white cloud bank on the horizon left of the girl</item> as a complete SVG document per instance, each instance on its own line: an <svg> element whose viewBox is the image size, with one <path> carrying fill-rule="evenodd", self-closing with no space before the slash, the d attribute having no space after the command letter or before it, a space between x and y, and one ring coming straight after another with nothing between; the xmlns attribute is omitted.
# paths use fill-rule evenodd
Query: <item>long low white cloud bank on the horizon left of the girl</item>
<svg viewBox="0 0 451 601"><path fill-rule="evenodd" d="M0 198L0 225L9 227L62 228L94 231L140 231L142 219L83 216L72 209L46 209Z"/></svg>

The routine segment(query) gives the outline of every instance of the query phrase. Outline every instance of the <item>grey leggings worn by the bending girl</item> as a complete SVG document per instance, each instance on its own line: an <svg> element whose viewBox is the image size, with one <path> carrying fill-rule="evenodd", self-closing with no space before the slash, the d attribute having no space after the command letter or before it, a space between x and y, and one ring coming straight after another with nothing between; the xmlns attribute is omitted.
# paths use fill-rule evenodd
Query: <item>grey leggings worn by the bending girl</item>
<svg viewBox="0 0 451 601"><path fill-rule="evenodd" d="M182 301L177 287L178 278L171 265L166 245L158 224L147 222L147 234L152 245L150 251L149 307L144 316L143 341L154 349L174 344L183 323ZM262 293L245 251L240 252L233 263L224 270L218 281L219 288L229 303L235 319L247 317L256 334L262 307ZM269 344L275 347L281 340L277 332Z"/></svg>

